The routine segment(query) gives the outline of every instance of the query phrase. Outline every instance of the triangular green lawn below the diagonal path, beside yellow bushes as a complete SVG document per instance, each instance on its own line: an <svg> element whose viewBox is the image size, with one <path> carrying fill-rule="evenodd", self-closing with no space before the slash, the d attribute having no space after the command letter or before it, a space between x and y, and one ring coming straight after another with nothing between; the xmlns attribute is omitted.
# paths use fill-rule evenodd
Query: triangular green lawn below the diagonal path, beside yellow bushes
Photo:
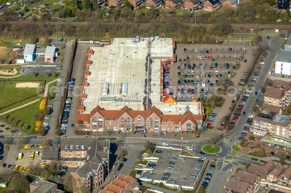
<svg viewBox="0 0 291 193"><path fill-rule="evenodd" d="M11 111L8 113L10 117L15 117L17 120L22 121L23 123L26 123L28 125L28 133L30 133L35 125L35 115L39 110L39 105L40 102L36 102L30 105L27 105L26 107L17 109L16 111ZM4 120L3 116L0 116L1 120ZM7 120L6 120L7 121ZM10 123L8 121L8 123ZM17 127L20 129L20 125L14 125L13 126ZM26 132L26 129L22 128L22 131Z"/></svg>

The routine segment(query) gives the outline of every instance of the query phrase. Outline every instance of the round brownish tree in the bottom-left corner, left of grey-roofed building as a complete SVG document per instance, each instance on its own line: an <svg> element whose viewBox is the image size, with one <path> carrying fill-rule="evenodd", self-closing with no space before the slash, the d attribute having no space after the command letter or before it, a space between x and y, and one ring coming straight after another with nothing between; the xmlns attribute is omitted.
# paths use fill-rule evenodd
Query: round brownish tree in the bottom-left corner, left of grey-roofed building
<svg viewBox="0 0 291 193"><path fill-rule="evenodd" d="M11 179L11 188L16 192L28 192L29 191L29 181L26 175L22 173L17 173Z"/></svg>

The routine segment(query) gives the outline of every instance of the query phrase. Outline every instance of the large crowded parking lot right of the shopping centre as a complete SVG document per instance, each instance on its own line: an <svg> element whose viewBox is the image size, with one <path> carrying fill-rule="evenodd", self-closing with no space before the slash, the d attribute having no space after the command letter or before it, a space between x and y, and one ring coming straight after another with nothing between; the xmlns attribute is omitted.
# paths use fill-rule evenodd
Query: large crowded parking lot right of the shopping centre
<svg viewBox="0 0 291 193"><path fill-rule="evenodd" d="M186 51L184 51L184 48L186 48ZM234 81L236 83L241 78L240 76L234 76L234 78L231 76L240 73L237 72L238 65L239 71L241 69L246 70L253 60L253 51L249 42L245 42L245 49L246 53L242 58L243 42L239 44L238 41L230 41L228 44L225 42L222 45L177 45L177 62L169 66L170 81L165 81L169 82L166 86L170 93L177 98L192 96L198 99L205 98L205 94L211 96L215 87L222 85L223 81ZM203 54L201 54L201 50L203 50ZM245 60L246 62L244 62ZM182 68L182 65L185 65L185 68ZM188 65L190 65L190 69ZM218 77L215 74L216 71ZM205 75L205 77L202 77L202 75ZM238 80L235 81L236 79ZM202 81L205 81L203 85ZM180 89L180 92L178 92L178 89ZM183 95L182 89L184 90ZM208 89L207 92L205 92L206 89Z"/></svg>

